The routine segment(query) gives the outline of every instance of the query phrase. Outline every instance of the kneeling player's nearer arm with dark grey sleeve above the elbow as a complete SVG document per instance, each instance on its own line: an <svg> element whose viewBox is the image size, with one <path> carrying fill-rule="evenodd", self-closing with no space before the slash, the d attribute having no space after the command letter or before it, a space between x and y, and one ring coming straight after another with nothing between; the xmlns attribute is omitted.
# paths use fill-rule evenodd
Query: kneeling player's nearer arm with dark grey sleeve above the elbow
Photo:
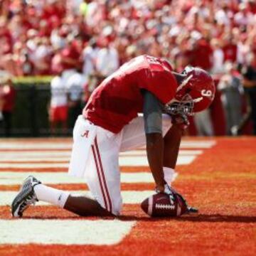
<svg viewBox="0 0 256 256"><path fill-rule="evenodd" d="M149 91L143 91L144 128L146 133L146 154L157 191L164 191L164 139L159 100Z"/></svg>

